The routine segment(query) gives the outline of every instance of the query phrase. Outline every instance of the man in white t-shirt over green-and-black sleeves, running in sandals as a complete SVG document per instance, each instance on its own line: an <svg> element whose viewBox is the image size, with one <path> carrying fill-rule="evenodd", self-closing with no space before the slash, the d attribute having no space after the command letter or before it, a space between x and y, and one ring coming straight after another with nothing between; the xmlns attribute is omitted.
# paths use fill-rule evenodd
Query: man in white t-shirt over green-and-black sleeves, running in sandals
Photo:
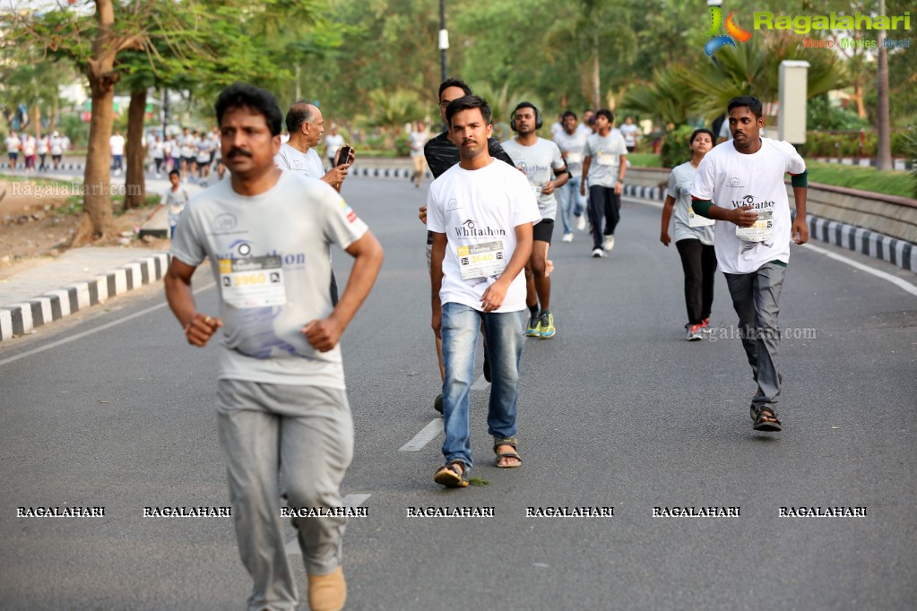
<svg viewBox="0 0 917 611"><path fill-rule="evenodd" d="M756 431L780 431L777 322L790 240L809 241L805 162L788 142L760 136L761 102L750 95L728 105L732 140L713 147L694 175L694 212L716 221L714 249L739 316L739 333L757 382L751 419ZM789 173L796 202L783 183ZM717 202L713 204L713 202Z"/></svg>

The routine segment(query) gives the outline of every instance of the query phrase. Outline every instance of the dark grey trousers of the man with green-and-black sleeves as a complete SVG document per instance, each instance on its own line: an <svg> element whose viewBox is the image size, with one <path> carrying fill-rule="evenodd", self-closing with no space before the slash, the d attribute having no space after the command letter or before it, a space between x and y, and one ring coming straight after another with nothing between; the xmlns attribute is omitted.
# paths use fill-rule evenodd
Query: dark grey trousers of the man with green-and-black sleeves
<svg viewBox="0 0 917 611"><path fill-rule="evenodd" d="M752 401L758 409L768 407L775 413L780 394L777 316L786 271L786 267L766 263L750 274L724 274L735 313L739 315L742 346L760 388Z"/></svg>

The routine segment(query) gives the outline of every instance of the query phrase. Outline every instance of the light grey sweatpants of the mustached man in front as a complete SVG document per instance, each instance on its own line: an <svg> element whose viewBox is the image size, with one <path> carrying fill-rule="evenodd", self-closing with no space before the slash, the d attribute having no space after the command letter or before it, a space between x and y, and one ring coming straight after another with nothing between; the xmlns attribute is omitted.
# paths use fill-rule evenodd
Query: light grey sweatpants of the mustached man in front
<svg viewBox="0 0 917 611"><path fill-rule="evenodd" d="M293 609L299 595L283 540L289 507L342 507L353 456L344 390L220 380L217 425L226 461L238 551L254 579L249 609ZM306 573L341 563L345 518L293 518Z"/></svg>

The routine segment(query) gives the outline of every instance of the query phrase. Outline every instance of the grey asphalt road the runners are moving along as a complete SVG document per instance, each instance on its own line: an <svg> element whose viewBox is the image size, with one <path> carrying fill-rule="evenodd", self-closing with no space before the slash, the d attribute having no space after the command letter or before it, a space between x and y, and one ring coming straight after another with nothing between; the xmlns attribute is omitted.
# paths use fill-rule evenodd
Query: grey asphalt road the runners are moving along
<svg viewBox="0 0 917 611"><path fill-rule="evenodd" d="M555 234L558 335L526 341L525 464L492 466L487 390L475 390L472 475L488 484L444 490L432 480L441 434L401 450L436 427L415 218L425 191L354 179L345 194L386 250L343 342L356 426L344 494L369 513L348 525L348 609L917 607L914 294L794 248L780 313L791 335L780 347L784 431L756 433L722 276L713 323L724 336L685 342L678 253L658 242L657 207L625 202L609 258L591 258L583 234L572 244ZM335 264L343 283L348 256ZM215 298L201 290L200 309L215 311ZM244 608L250 582L230 518L142 515L228 503L215 348L184 344L163 301L158 287L140 289L0 345L0 607ZM105 507L105 517L17 518L34 506ZM494 507L494 517L407 517L408 507L456 506ZM613 517L525 517L527 507L583 506ZM740 515L653 517L654 507L710 506ZM780 507L867 515L780 518Z"/></svg>

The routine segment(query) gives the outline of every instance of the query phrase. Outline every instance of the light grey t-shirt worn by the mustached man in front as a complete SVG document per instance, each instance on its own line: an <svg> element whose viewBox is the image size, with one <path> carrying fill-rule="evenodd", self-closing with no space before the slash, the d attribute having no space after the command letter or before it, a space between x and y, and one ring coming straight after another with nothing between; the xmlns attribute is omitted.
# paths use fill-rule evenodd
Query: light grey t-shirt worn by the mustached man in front
<svg viewBox="0 0 917 611"><path fill-rule="evenodd" d="M191 266L210 259L221 379L345 387L340 346L319 352L302 329L333 310L328 246L347 248L366 231L337 191L295 172L250 197L220 180L188 202L171 255Z"/></svg>

